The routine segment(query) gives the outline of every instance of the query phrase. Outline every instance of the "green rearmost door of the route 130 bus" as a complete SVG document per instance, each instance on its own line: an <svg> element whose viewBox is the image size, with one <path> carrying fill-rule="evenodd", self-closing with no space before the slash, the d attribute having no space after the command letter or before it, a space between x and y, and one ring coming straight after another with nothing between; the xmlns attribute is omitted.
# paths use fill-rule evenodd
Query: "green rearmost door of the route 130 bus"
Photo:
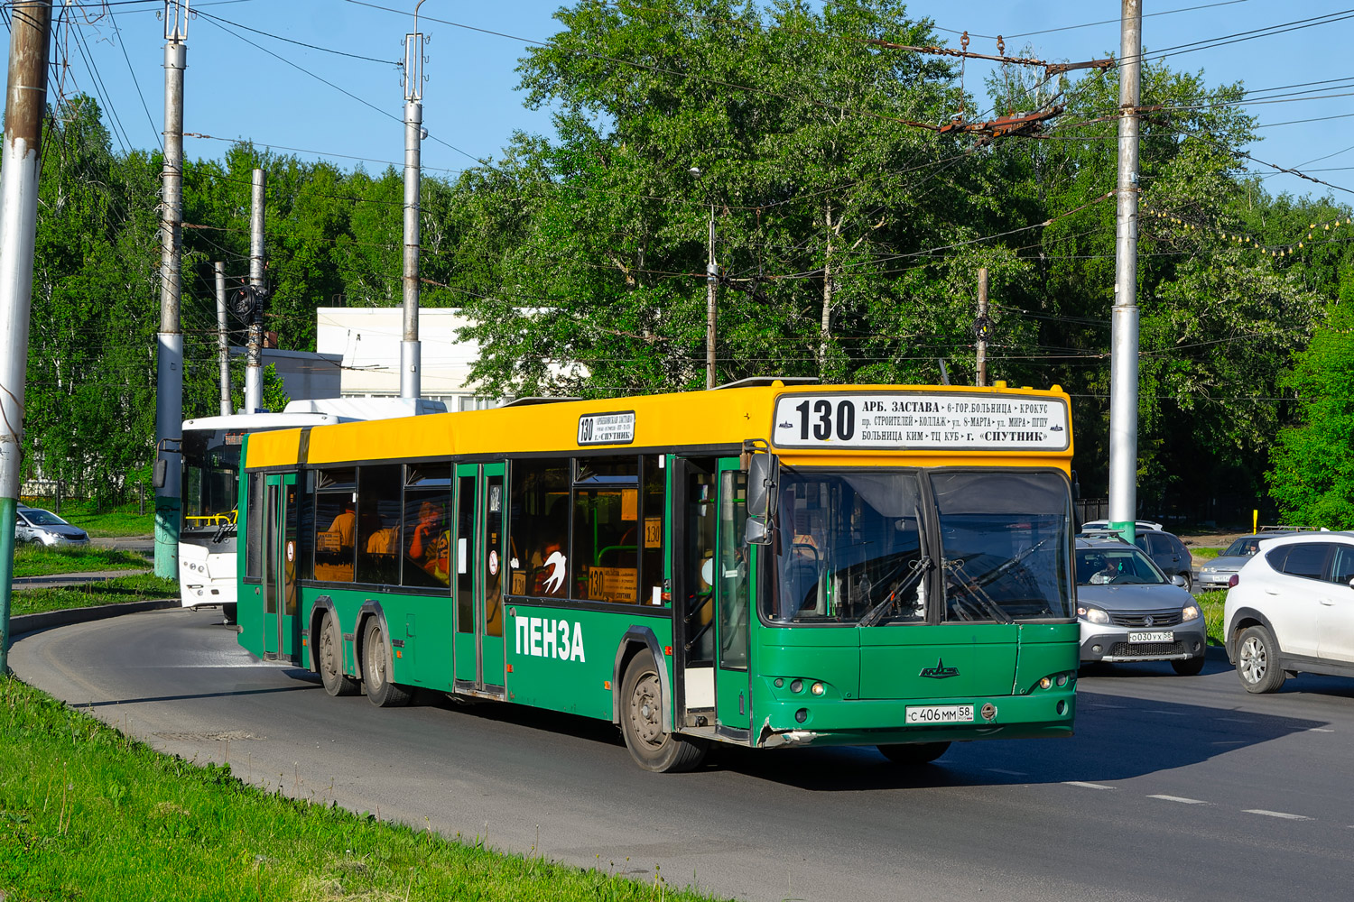
<svg viewBox="0 0 1354 902"><path fill-rule="evenodd" d="M265 476L263 499L264 660L295 660L299 653L297 475Z"/></svg>

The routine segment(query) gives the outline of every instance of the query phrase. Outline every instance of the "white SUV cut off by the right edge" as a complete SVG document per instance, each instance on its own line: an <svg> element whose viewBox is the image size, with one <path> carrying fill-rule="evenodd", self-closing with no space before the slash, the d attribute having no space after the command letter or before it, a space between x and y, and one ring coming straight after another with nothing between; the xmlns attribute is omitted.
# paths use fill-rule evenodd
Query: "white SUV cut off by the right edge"
<svg viewBox="0 0 1354 902"><path fill-rule="evenodd" d="M1232 579L1227 657L1247 692L1298 672L1354 676L1354 533L1266 540Z"/></svg>

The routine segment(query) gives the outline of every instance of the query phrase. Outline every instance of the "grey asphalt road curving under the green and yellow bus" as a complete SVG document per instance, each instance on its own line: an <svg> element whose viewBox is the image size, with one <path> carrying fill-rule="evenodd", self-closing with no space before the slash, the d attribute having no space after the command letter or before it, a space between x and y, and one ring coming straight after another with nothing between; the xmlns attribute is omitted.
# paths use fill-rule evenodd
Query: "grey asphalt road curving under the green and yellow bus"
<svg viewBox="0 0 1354 902"><path fill-rule="evenodd" d="M284 792L747 899L1346 899L1354 680L1247 695L1224 661L1086 673L1070 740L724 749L638 769L615 730L501 705L329 698L219 611L16 640L24 680L156 748Z"/></svg>

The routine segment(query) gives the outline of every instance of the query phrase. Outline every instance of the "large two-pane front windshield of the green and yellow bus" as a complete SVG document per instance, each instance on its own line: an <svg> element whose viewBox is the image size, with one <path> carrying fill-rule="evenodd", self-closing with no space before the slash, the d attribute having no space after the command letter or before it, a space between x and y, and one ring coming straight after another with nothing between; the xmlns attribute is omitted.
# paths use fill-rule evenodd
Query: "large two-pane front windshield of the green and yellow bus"
<svg viewBox="0 0 1354 902"><path fill-rule="evenodd" d="M785 468L776 521L766 613L777 622L1071 617L1060 473ZM945 603L932 618L937 568Z"/></svg>

